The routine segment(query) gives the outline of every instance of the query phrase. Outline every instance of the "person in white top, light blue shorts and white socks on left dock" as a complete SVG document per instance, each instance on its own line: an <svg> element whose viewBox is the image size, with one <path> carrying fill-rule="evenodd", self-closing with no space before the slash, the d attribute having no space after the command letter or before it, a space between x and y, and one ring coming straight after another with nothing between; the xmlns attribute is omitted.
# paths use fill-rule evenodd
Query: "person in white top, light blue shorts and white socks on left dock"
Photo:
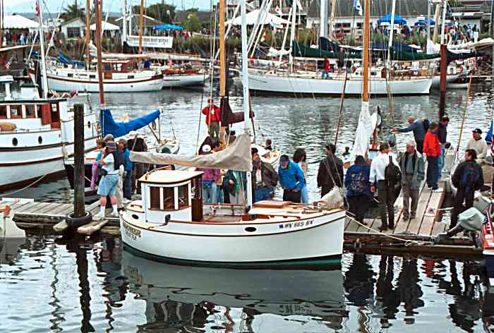
<svg viewBox="0 0 494 333"><path fill-rule="evenodd" d="M102 165L102 174L100 185L98 186L97 194L100 195L101 205L100 212L97 213L94 217L95 220L104 218L104 210L107 207L107 195L109 195L110 200L112 201L112 217L118 217L119 212L117 210L116 205L116 185L119 181L119 163L118 157L116 156L116 145L114 142L110 141L107 143L106 147L101 150L101 159L100 164Z"/></svg>

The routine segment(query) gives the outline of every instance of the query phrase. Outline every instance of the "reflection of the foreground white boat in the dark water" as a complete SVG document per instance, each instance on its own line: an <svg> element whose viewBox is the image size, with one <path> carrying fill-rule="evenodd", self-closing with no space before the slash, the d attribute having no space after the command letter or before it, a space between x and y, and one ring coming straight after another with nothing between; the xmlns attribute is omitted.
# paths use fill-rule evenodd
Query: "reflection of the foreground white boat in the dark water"
<svg viewBox="0 0 494 333"><path fill-rule="evenodd" d="M341 329L348 316L341 270L186 267L153 262L127 251L123 251L122 270L129 291L146 302L147 324L140 329L223 325L236 332L255 327L256 318L267 314L285 317L291 328ZM262 320L267 328L269 317ZM272 325L282 329L279 319L272 320Z"/></svg>

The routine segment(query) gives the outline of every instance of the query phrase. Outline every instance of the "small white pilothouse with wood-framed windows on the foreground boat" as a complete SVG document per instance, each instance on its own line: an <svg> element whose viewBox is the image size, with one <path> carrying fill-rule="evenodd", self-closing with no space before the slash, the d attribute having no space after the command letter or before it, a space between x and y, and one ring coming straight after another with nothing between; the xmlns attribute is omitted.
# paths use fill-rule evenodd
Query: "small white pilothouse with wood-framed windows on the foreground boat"
<svg viewBox="0 0 494 333"><path fill-rule="evenodd" d="M140 178L145 219L150 223L201 221L203 173L155 170Z"/></svg>

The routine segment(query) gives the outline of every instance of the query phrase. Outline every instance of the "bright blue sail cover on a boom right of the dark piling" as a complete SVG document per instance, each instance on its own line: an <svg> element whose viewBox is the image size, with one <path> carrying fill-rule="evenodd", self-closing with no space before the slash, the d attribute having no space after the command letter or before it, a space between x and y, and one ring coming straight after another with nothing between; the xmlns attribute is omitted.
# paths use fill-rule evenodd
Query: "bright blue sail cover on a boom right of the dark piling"
<svg viewBox="0 0 494 333"><path fill-rule="evenodd" d="M102 109L100 114L100 121L102 123L103 136L112 134L114 138L119 138L128 134L131 131L137 131L139 128L143 128L148 123L151 123L159 117L160 110L152 111L150 114L146 114L138 119L132 119L126 123L114 121L112 112L109 109Z"/></svg>

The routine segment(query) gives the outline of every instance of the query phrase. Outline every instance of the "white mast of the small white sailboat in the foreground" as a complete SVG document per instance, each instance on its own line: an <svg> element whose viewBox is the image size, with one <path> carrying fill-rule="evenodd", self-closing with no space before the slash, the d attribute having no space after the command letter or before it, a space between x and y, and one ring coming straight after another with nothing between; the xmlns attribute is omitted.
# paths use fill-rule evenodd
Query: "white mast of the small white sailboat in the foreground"
<svg viewBox="0 0 494 333"><path fill-rule="evenodd" d="M220 0L221 1L221 0ZM296 0L294 0L296 2ZM246 135L251 135L251 111L249 109L249 94L248 94L248 59L247 59L247 18L246 18L246 0L240 0L241 4L241 39L242 39L242 83L243 83L243 130ZM247 173L247 206L252 207L252 175Z"/></svg>

